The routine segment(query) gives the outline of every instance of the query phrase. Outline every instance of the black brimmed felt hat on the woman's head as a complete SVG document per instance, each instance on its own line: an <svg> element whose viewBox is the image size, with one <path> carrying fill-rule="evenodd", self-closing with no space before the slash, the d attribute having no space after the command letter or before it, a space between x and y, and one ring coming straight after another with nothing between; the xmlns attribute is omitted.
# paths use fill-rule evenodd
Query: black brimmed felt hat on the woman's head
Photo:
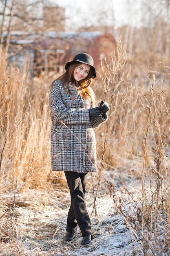
<svg viewBox="0 0 170 256"><path fill-rule="evenodd" d="M70 61L70 62L67 62L67 63L66 63L65 70L68 70L68 67L70 66L70 64L73 63L73 62L75 62L75 61L79 61L79 62L81 62L81 63L90 65L90 66L92 67L92 70L93 70L93 78L96 77L96 70L95 70L95 68L93 67L94 61L93 61L92 56L90 56L89 54L84 53L84 52L77 54L77 55L73 58L73 61Z"/></svg>

